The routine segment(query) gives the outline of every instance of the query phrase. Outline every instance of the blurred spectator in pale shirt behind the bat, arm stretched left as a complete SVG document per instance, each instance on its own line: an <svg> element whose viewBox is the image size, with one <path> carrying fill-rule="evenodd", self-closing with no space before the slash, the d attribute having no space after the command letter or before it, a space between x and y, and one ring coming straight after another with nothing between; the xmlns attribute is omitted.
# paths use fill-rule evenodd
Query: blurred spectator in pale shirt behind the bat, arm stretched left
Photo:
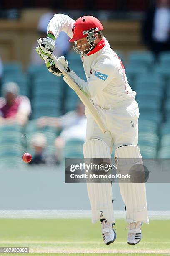
<svg viewBox="0 0 170 256"><path fill-rule="evenodd" d="M62 160L62 149L65 143L70 139L86 138L86 117L84 113L85 107L81 102L78 102L74 111L70 111L59 118L42 117L37 120L37 125L54 126L62 128L60 136L55 139L56 157L58 161Z"/></svg>

